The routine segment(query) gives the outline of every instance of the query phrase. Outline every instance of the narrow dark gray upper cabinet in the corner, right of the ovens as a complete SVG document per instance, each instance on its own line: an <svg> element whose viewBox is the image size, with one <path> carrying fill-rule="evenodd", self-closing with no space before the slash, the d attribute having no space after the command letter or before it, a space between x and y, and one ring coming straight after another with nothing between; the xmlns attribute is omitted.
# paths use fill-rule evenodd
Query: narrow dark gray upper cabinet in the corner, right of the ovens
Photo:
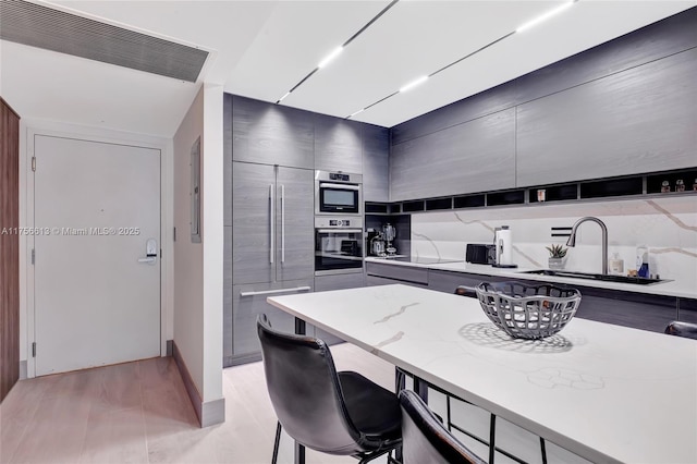
<svg viewBox="0 0 697 464"><path fill-rule="evenodd" d="M363 124L363 199L390 200L390 130Z"/></svg>

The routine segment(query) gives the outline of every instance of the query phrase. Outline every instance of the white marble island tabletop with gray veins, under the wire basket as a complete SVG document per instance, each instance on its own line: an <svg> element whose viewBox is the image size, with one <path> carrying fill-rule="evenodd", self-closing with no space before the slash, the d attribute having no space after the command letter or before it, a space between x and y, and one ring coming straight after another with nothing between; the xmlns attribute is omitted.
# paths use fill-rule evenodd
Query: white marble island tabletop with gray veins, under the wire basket
<svg viewBox="0 0 697 464"><path fill-rule="evenodd" d="M590 462L697 462L697 342L579 318L541 341L408 285L268 302Z"/></svg>

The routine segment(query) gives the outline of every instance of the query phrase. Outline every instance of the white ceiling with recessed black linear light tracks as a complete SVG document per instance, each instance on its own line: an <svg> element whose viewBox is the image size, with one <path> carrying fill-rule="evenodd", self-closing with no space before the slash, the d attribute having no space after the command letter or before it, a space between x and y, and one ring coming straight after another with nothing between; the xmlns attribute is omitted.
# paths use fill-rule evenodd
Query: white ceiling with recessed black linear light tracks
<svg viewBox="0 0 697 464"><path fill-rule="evenodd" d="M281 105L346 117L470 53L560 0L402 0ZM170 137L201 82L276 101L389 1L46 3L211 51L199 83L0 41L0 94L23 117ZM383 126L460 100L697 4L580 0L558 16L354 119Z"/></svg>

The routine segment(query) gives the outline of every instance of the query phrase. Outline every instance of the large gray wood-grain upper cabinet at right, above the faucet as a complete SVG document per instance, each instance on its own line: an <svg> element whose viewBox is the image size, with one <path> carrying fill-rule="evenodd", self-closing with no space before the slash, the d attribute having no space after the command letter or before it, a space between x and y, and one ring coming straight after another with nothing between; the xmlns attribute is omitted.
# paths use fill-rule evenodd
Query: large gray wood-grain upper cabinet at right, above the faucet
<svg viewBox="0 0 697 464"><path fill-rule="evenodd" d="M697 49L517 108L517 186L690 168Z"/></svg>

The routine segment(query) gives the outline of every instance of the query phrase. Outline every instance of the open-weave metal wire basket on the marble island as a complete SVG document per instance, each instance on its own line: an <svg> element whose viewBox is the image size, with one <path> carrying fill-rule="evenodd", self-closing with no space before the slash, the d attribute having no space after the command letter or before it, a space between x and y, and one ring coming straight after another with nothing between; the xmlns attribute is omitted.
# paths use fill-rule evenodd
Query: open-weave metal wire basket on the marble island
<svg viewBox="0 0 697 464"><path fill-rule="evenodd" d="M518 339L543 339L559 332L576 314L580 292L551 284L481 282L475 288L487 317Z"/></svg>

